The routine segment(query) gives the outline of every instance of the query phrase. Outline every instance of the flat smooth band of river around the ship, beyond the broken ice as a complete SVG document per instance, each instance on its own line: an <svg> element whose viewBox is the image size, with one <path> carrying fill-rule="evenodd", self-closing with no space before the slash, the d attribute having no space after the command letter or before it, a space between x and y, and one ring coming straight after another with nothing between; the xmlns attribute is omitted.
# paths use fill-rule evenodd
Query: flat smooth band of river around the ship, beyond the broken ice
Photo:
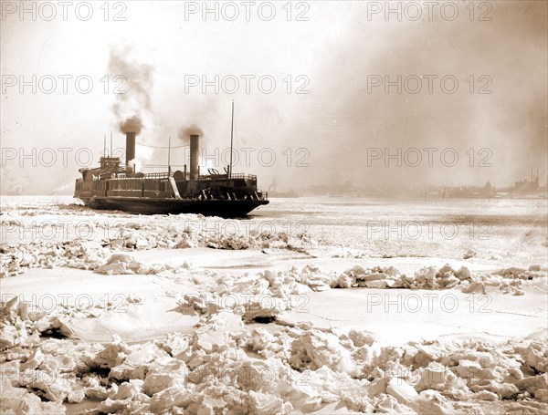
<svg viewBox="0 0 548 415"><path fill-rule="evenodd" d="M125 222L142 222L178 223L202 233L307 234L314 243L359 250L366 256L461 258L471 250L484 259L532 263L543 262L548 248L546 199L275 198L248 219L205 222L194 215L167 218L98 212L79 203L70 196L4 196L2 240L97 239L114 236L117 230L111 225L120 229ZM101 223L110 225L90 232L90 227Z"/></svg>

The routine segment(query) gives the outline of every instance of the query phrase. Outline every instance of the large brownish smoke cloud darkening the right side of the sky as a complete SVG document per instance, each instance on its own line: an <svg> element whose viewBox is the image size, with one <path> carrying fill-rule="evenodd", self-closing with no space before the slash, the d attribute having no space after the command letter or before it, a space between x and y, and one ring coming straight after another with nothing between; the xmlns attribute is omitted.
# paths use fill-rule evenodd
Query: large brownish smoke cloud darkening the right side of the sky
<svg viewBox="0 0 548 415"><path fill-rule="evenodd" d="M364 2L365 3L365 2ZM453 22L440 20L397 22L385 37L371 32L371 42L361 37L344 38L332 46L331 64L314 78L329 85L301 119L320 119L313 127L316 164L329 177L323 181L353 184L402 182L475 182L486 180L497 186L528 177L531 168L545 175L546 130L546 5L543 2L491 2L491 21L470 22L459 16ZM356 5L356 8L359 8ZM360 8L364 12L363 8ZM462 10L466 10L461 8ZM364 27L364 16L353 26ZM357 18L357 17L356 17ZM381 17L382 18L382 17ZM374 48L374 46L377 46ZM323 67L322 67L323 68ZM384 88L367 92L367 75L453 74L458 92L385 94ZM476 77L476 92L469 93L470 75ZM478 78L488 75L491 94L481 95ZM438 78L438 79L439 79ZM338 79L339 82L332 82ZM485 85L483 83L483 85ZM306 130L308 126L298 126ZM310 128L309 128L310 129ZM455 168L440 166L439 153L433 168L423 161L419 167L385 167L377 161L367 167L368 148L454 147L460 161ZM490 149L492 167L469 167L465 151ZM306 171L316 174L317 171ZM321 179L312 178L315 182Z"/></svg>

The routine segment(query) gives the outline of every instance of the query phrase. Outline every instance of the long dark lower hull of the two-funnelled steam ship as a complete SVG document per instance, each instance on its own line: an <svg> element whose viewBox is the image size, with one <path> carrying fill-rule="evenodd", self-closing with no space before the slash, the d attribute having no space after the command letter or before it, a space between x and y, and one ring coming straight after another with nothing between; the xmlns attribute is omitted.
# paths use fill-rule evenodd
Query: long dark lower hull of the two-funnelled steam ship
<svg viewBox="0 0 548 415"><path fill-rule="evenodd" d="M237 218L246 216L265 200L199 201L188 199L153 199L133 197L93 197L84 201L93 209L141 214L201 213L205 216Z"/></svg>

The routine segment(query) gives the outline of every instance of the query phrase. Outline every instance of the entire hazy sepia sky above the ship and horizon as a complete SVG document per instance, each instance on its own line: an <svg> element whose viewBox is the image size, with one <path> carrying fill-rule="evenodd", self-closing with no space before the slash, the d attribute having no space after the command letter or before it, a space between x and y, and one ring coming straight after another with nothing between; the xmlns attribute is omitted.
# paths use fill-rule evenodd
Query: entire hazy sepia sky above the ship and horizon
<svg viewBox="0 0 548 415"><path fill-rule="evenodd" d="M2 2L2 192L71 192L132 115L153 146L187 144L178 132L195 124L221 170L232 99L234 171L263 189L502 186L532 168L545 182L547 3L434 3L26 2L21 15ZM166 159L137 147L138 164Z"/></svg>

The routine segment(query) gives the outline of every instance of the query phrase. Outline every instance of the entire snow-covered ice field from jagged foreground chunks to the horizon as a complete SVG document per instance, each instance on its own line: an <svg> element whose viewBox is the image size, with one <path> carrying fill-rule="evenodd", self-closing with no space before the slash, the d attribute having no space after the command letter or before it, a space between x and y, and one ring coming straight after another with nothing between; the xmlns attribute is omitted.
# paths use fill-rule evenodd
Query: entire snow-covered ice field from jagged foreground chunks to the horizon
<svg viewBox="0 0 548 415"><path fill-rule="evenodd" d="M3 413L548 410L546 201L485 240L366 235L406 207L346 202L223 220L3 198Z"/></svg>

